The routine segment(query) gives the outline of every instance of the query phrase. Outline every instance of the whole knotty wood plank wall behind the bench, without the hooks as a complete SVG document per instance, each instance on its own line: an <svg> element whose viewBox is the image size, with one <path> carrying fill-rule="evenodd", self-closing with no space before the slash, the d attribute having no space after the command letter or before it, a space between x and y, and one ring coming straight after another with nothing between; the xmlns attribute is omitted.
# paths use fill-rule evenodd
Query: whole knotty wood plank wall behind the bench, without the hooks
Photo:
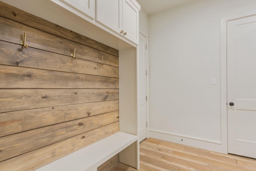
<svg viewBox="0 0 256 171"><path fill-rule="evenodd" d="M118 132L118 50L0 9L0 170L34 170Z"/></svg>

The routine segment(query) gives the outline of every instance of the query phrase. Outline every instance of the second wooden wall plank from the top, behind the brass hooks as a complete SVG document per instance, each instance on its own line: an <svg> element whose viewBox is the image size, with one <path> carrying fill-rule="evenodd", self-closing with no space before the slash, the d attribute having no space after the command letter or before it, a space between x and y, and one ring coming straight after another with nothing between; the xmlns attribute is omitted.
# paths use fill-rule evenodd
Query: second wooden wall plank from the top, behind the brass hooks
<svg viewBox="0 0 256 171"><path fill-rule="evenodd" d="M118 57L114 55L110 55L80 43L64 39L57 35L52 35L45 31L31 28L3 17L0 17L0 28L0 39L4 41L20 44L20 40L24 39L24 32L26 32L26 41L28 42L29 47L67 56L70 56L70 54L73 53L74 48L76 48L76 57L79 59L86 59L99 63L103 56L103 61L106 65L118 67Z"/></svg>

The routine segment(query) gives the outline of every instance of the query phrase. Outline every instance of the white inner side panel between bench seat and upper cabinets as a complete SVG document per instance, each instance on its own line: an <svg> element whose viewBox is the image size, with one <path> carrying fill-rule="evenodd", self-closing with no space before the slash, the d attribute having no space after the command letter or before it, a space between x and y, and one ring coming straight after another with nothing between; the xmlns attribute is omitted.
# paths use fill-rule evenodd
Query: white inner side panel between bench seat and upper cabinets
<svg viewBox="0 0 256 171"><path fill-rule="evenodd" d="M119 51L120 131L138 134L136 48Z"/></svg>

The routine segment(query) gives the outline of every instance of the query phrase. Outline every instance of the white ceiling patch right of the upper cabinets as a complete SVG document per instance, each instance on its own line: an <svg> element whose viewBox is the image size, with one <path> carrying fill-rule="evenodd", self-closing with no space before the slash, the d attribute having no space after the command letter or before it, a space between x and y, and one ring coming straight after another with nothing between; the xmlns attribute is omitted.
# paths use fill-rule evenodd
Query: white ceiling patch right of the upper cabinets
<svg viewBox="0 0 256 171"><path fill-rule="evenodd" d="M137 0L141 8L148 14L155 14L192 0Z"/></svg>

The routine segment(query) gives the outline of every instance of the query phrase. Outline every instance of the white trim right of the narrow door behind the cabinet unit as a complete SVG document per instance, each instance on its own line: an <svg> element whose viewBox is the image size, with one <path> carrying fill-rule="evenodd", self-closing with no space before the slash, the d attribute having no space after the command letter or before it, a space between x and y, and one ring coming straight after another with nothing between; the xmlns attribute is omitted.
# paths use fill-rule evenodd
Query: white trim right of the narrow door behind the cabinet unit
<svg viewBox="0 0 256 171"><path fill-rule="evenodd" d="M148 59L148 35L143 34L142 32L139 31L139 34L141 34L142 36L144 36L146 38L146 70L147 70L147 75L146 75L146 96L147 96L147 100L146 100L146 122L147 122L147 135L146 138L149 138L149 59ZM140 48L140 47L139 47Z"/></svg>

